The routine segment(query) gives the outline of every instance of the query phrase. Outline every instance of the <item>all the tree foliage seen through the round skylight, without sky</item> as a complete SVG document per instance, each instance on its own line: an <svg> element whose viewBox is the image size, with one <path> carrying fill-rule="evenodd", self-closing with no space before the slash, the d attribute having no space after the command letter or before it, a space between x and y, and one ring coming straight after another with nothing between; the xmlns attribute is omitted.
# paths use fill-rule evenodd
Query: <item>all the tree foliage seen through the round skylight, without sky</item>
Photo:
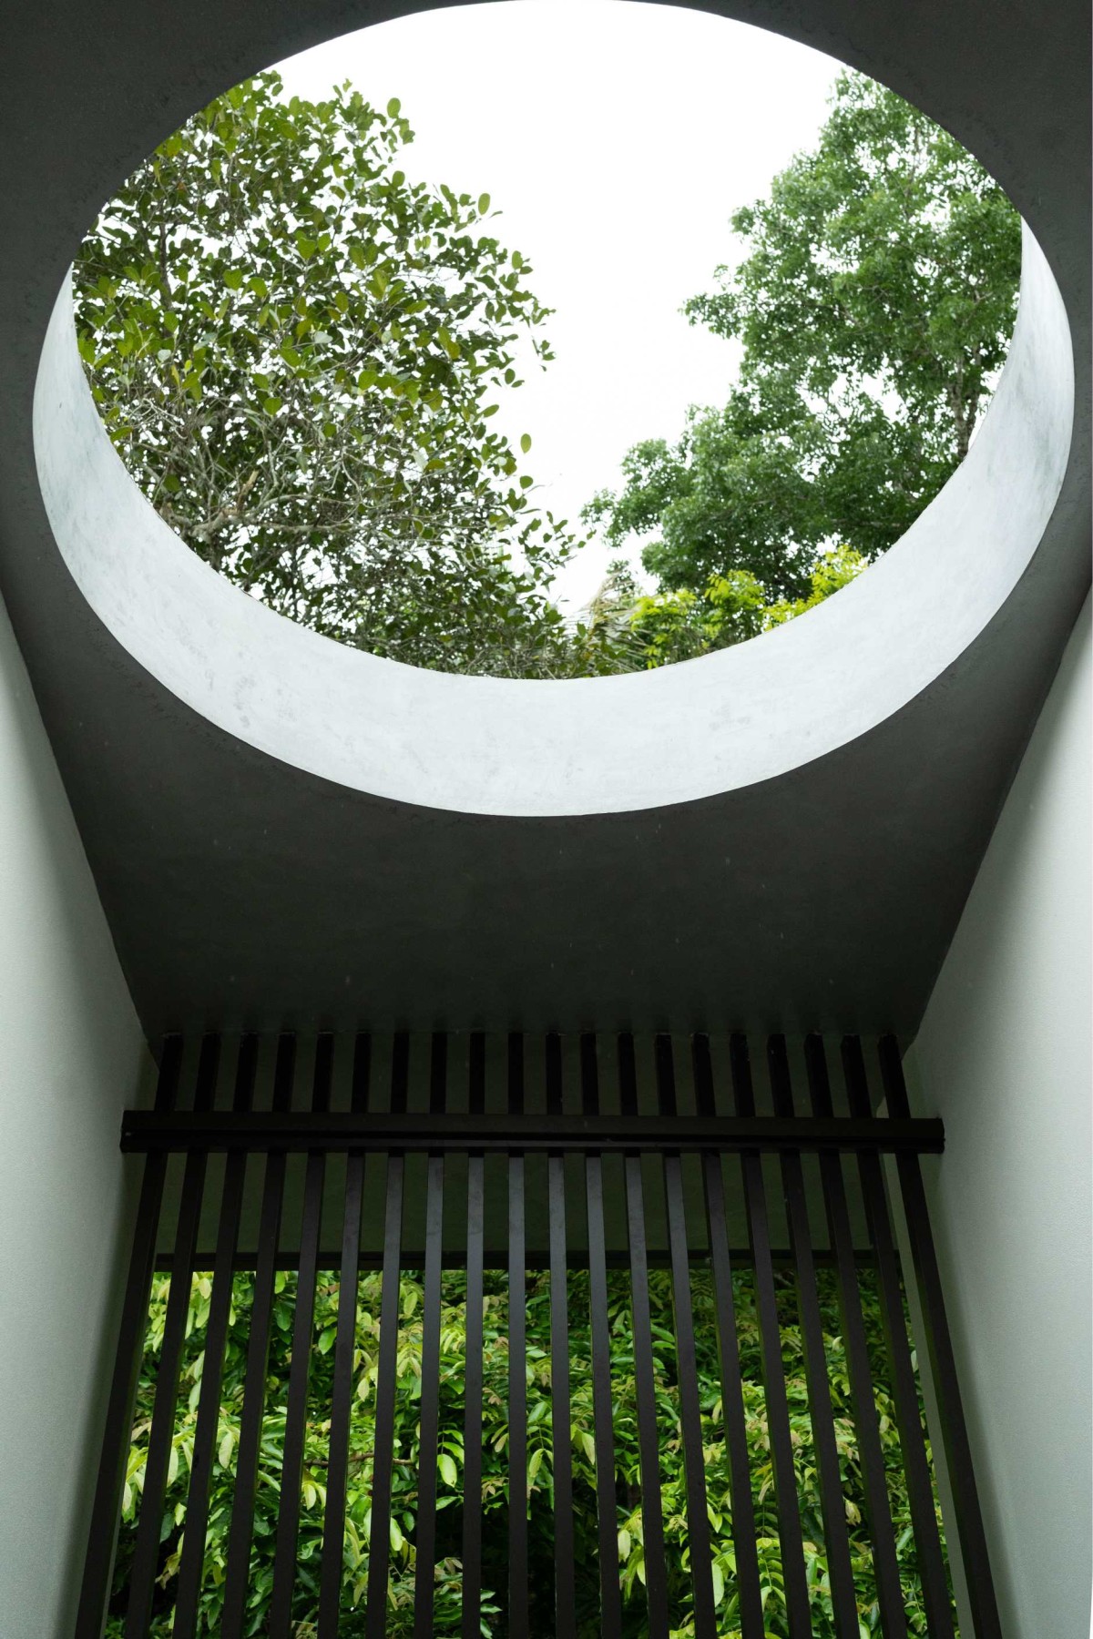
<svg viewBox="0 0 1093 1639"><path fill-rule="evenodd" d="M731 218L685 311L734 344L726 403L636 444L585 510L642 543L567 621L583 544L495 431L552 357L488 195L408 182L413 133L349 85L238 85L126 182L75 267L115 446L213 569L326 636L447 670L572 677L757 636L854 579L968 449L1005 359L1019 220L946 131L859 74L816 149Z"/></svg>

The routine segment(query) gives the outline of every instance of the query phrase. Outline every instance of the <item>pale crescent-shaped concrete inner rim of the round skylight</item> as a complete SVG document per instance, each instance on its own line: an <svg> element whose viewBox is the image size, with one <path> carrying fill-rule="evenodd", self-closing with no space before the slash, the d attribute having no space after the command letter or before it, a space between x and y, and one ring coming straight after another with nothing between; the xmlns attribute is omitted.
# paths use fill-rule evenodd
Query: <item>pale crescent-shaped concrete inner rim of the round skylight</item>
<svg viewBox="0 0 1093 1639"><path fill-rule="evenodd" d="M1009 357L964 464L870 570L698 661L515 682L383 661L274 615L157 516L102 425L57 297L34 451L57 547L120 644L246 744L338 785L506 816L628 813L788 774L883 723L975 641L1059 497L1073 421L1064 302L1024 229Z"/></svg>

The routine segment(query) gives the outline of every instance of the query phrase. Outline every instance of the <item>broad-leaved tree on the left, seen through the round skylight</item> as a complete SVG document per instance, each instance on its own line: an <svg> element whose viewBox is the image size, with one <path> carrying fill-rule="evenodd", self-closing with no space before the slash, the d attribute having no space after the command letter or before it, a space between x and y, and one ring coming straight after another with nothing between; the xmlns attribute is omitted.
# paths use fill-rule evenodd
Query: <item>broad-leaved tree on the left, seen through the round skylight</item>
<svg viewBox="0 0 1093 1639"><path fill-rule="evenodd" d="M547 587L578 541L492 421L547 313L488 195L397 169L411 139L349 85L234 87L84 243L80 352L152 506L270 608L418 665L565 672Z"/></svg>

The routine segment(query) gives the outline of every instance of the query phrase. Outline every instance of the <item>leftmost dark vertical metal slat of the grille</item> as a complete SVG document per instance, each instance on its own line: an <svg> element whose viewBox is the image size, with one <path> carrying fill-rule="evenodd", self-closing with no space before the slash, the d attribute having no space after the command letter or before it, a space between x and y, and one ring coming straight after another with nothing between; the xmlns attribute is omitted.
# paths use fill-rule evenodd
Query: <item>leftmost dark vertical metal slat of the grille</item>
<svg viewBox="0 0 1093 1639"><path fill-rule="evenodd" d="M156 1110L174 1110L180 1065L182 1037L167 1036L159 1062ZM80 1583L80 1605L75 1618L75 1639L100 1639L107 1600L110 1596L121 1490L133 1429L133 1405L141 1375L144 1333L147 1331L147 1301L156 1269L156 1233L159 1229L159 1208L166 1172L166 1155L144 1157L141 1195L133 1224L129 1270L118 1323L118 1352L110 1382L102 1457L87 1531L87 1554L84 1559L84 1580Z"/></svg>

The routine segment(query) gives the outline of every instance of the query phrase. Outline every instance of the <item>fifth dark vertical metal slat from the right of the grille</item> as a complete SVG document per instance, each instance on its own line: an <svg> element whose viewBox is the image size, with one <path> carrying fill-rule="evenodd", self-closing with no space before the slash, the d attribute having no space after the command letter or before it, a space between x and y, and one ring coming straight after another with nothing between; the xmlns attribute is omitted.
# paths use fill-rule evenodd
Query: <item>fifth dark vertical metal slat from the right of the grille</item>
<svg viewBox="0 0 1093 1639"><path fill-rule="evenodd" d="M732 1065L732 1096L737 1116L755 1115L752 1069L747 1057L747 1041L739 1033L729 1044ZM741 1155L744 1180L744 1206L747 1233L755 1264L755 1306L764 1362L764 1393L767 1398L767 1432L773 1465L773 1490L778 1510L778 1541L782 1544L782 1578L785 1585L785 1609L790 1639L810 1639L811 1613L808 1580L805 1572L805 1539L796 1500L796 1470L793 1467L793 1441L790 1437L790 1406L782 1365L782 1331L778 1328L778 1300L773 1285L770 1259L770 1229L767 1224L767 1192L757 1151Z"/></svg>

